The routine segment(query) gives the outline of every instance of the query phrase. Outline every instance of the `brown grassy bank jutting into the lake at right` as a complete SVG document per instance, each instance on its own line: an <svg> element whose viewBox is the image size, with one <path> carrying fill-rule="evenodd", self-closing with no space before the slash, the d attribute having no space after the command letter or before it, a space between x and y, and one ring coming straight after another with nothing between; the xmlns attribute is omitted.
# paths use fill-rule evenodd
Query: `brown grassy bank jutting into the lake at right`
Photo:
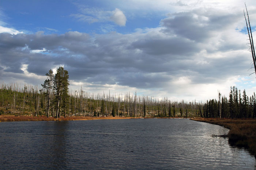
<svg viewBox="0 0 256 170"><path fill-rule="evenodd" d="M247 148L256 157L255 119L193 118L191 120L221 125L230 129L228 133L230 143Z"/></svg>

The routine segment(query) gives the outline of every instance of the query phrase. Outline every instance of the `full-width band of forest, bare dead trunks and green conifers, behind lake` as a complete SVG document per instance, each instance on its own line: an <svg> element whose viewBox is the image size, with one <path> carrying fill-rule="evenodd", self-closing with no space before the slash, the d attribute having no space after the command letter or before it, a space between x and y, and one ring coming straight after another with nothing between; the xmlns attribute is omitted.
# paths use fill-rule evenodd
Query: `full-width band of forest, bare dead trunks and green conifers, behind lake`
<svg viewBox="0 0 256 170"><path fill-rule="evenodd" d="M135 94L93 93L68 89L64 68L46 73L42 88L2 84L0 114L34 116L128 116L128 117L221 117L256 118L256 96L230 88L229 97L219 93L218 100L206 102L170 101Z"/></svg>

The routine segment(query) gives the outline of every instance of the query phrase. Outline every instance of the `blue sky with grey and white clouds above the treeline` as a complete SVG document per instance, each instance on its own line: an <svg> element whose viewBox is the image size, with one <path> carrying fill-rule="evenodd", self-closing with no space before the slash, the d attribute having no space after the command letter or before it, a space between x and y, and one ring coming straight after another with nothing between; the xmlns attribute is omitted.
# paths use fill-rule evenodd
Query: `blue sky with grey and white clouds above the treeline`
<svg viewBox="0 0 256 170"><path fill-rule="evenodd" d="M256 38L256 2L246 0ZM206 101L256 91L244 0L1 0L0 83ZM253 73L252 75L250 75Z"/></svg>

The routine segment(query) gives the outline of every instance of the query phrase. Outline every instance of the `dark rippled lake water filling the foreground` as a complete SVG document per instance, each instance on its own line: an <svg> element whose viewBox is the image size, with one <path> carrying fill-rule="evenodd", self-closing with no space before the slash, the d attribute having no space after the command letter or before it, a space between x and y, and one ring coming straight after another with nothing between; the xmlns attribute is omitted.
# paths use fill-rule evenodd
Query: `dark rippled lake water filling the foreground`
<svg viewBox="0 0 256 170"><path fill-rule="evenodd" d="M0 169L256 169L228 130L188 119L0 122Z"/></svg>

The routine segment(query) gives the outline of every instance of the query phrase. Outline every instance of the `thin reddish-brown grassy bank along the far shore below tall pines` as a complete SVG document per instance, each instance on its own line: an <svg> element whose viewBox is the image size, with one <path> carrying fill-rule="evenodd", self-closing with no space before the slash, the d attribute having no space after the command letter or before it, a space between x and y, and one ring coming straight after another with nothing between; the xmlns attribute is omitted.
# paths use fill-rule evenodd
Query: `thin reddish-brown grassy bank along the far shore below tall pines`
<svg viewBox="0 0 256 170"><path fill-rule="evenodd" d="M99 120L99 119L130 119L134 117L54 117L45 116L0 116L0 121L68 121L68 120Z"/></svg>

